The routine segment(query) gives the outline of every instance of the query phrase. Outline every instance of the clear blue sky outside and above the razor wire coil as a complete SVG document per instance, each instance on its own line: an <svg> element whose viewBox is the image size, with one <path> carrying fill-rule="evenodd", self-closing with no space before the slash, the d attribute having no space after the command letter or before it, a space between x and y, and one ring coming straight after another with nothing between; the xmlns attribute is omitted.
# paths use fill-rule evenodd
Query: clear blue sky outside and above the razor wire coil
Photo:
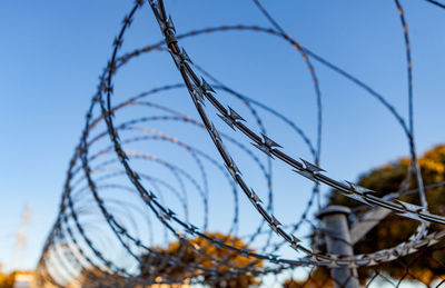
<svg viewBox="0 0 445 288"><path fill-rule="evenodd" d="M166 3L178 33L219 24L269 26L248 0ZM394 1L264 3L301 44L356 75L407 116L404 40ZM422 0L404 0L402 4L411 32L415 130L422 152L445 142L445 11ZM98 76L131 6L132 1L123 0L1 1L0 262L12 261L14 232L28 203L32 217L21 264L24 268L34 266L57 216L68 161ZM145 7L123 50L159 39L151 11ZM190 57L225 83L294 117L314 139L314 91L303 61L287 43L270 36L230 33L186 40L184 46ZM161 64L156 56L144 63ZM332 176L356 179L368 168L407 153L402 130L375 99L320 64L315 66L325 107L322 162ZM174 73L171 81L167 81L169 72ZM136 85L129 81L130 73L122 76L127 96L179 81L172 69L158 76L156 70L136 64L131 73L138 78ZM286 141L278 127L271 129Z"/></svg>

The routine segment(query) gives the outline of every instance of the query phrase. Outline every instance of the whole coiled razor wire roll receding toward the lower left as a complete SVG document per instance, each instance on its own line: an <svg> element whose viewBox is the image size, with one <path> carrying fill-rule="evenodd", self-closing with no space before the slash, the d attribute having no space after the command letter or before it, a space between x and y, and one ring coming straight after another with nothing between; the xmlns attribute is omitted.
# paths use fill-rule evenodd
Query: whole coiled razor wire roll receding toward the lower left
<svg viewBox="0 0 445 288"><path fill-rule="evenodd" d="M435 1L426 1L438 7L442 6ZM37 268L40 286L50 284L65 287L86 271L96 271L87 274L88 277L92 281L102 282L106 287L135 287L152 284L177 284L185 281L185 279L189 284L202 284L209 282L209 279L210 281L220 281L243 275L254 277L280 275L286 270L303 266L376 266L397 260L424 247L437 244L445 236L445 230L428 232L431 224L445 225L445 217L428 211L425 191L443 183L424 187L417 162L413 129L411 43L404 10L398 0L395 0L395 4L403 24L407 57L409 105L407 121L384 96L376 92L372 87L294 40L258 0L254 0L254 3L268 19L273 28L244 24L221 26L194 30L182 34L177 34L174 17L168 16L162 0L148 0L148 3L165 40L118 56L125 33L136 12L144 7L142 0L136 1L129 14L125 17L120 32L113 40L111 58L99 78L97 93L92 97L91 106L87 112L80 143L70 161L59 215L46 240ZM258 100L225 86L192 61L192 57L188 56L186 49L179 46L179 42L186 38L234 30L277 37L290 43L299 52L313 80L316 96L317 138L315 145L304 130L289 118ZM181 76L182 83L155 88L113 106L113 81L118 70L139 56L152 51L168 52L171 56L175 67ZM407 190L407 187L400 187L397 192L376 197L374 191L350 181L338 181L320 168L322 92L312 61L319 62L363 88L394 116L407 137L411 151L412 165L404 182L409 182L411 178L414 177L418 188ZM199 73L202 77L199 77ZM199 120L182 113L174 103L167 107L151 100L155 96L166 92L184 95L185 89L191 97ZM247 108L250 113L249 117L254 121L246 121L247 117L231 107L226 107L217 91L222 91L240 101ZM205 108L206 103L208 103L208 107ZM146 109L150 113L147 116L144 112L144 116L139 118L125 121L116 120L116 115L125 113L129 109ZM218 117L234 130L233 132L240 132L245 139L247 137L251 146L245 145L229 133L221 132L209 117L207 110L210 109L216 110ZM266 131L259 111L275 117L300 137L313 156L313 160L297 160L296 157L287 153ZM137 113L130 112L130 115ZM152 128L156 125L161 127L166 127L166 125L181 126L187 131L192 132L207 131L219 156L211 155L211 152L194 143L182 141L175 136ZM181 159L171 161L162 159L151 151L149 153L138 149L150 147L152 142L161 142L165 146L179 149L181 155L187 155L187 167L184 167ZM144 146L140 146L141 143ZM135 147L135 149L127 147ZM239 155L233 158L229 153L229 150L233 149L236 149L239 155L246 156L250 161L251 169L258 169L260 172L267 190L266 199L261 199L250 188L246 178L250 169L241 173L236 162ZM254 152L255 149L267 156L266 161ZM304 212L298 221L291 225L281 225L280 220L274 216L274 162L283 162L295 172L295 177L303 176L314 183ZM157 169L165 170L170 179L157 177L156 173L151 172L151 169L145 169L145 165L156 166ZM197 167L198 172L189 172L189 166ZM210 186L217 179L218 181L224 182L226 189L230 190L234 203L227 235L221 237L208 232L211 215L209 197L212 192ZM300 230L303 225L309 225L314 230L319 230L317 226L312 224L309 217L312 212L322 208L319 199L322 185L330 187L363 205L389 209L402 217L417 220L421 222L417 232L396 247L373 254L340 256L320 252L316 247L309 248L306 241L297 238L295 234ZM111 197L112 191L118 191L118 197ZM194 197L190 197L190 192L194 192ZM413 192L418 193L421 206L397 199ZM248 199L261 216L261 221L249 235L239 234L240 198ZM175 208L171 207L172 202L176 203L174 205ZM190 211L197 211L199 207L201 208L199 215L202 216L200 225L190 219ZM157 248L159 244L154 240L154 235L162 235L164 244L171 241L181 244L179 251L176 255L160 252ZM205 244L192 242L196 237L204 239ZM243 239L245 245L240 247L235 244L234 239ZM227 249L248 260L243 266L235 265L227 255L218 257L209 254L207 251L209 247ZM283 249L287 247L297 254L291 258L279 256L278 252L283 252ZM196 260L191 262L182 260L187 249L191 249L198 256ZM202 265L204 259L211 262L212 266ZM142 274L141 267L146 267L148 271ZM181 269L182 276L172 277L172 271L178 267Z"/></svg>

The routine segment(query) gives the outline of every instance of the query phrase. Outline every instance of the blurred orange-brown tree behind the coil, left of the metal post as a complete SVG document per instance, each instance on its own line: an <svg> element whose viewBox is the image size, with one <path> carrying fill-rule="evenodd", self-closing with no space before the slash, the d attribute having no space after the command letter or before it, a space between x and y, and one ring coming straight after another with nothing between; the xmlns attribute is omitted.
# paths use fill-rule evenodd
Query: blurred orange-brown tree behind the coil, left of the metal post
<svg viewBox="0 0 445 288"><path fill-rule="evenodd" d="M249 249L247 245L243 242L243 240L231 237L225 236L222 234L206 234L206 236L211 237L214 239L224 239L224 242L236 248L245 248ZM233 266L235 268L245 268L245 267L263 267L263 261L254 258L248 258L240 256L238 252L229 250L224 247L216 247L211 245L204 237L196 237L191 239L190 245L200 249L204 255L208 255L216 259L221 259L224 262ZM175 241L168 245L167 248L155 248L159 255L150 254L142 256L141 261L141 276L144 277L159 277L159 275L167 276L169 279L178 279L178 281L184 281L187 279L191 279L197 277L200 272L199 270L188 269L187 266L178 266L176 262L166 261L166 257L176 258L180 262L184 264L196 264L206 269L217 269L219 272L226 272L229 268L225 265L218 266L218 264L214 262L211 259L202 257L198 255L194 249L184 242ZM154 269L155 268L155 269ZM222 287L253 287L258 286L259 281L250 275L239 275L226 278L224 280L218 279L218 277L212 277L212 275L204 274L204 282L214 288L222 288Z"/></svg>

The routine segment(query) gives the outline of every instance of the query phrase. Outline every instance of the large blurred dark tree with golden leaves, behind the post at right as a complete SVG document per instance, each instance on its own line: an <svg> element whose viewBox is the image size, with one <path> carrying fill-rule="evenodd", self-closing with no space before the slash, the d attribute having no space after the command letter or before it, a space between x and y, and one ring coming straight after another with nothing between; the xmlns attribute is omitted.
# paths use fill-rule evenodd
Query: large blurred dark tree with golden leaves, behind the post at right
<svg viewBox="0 0 445 288"><path fill-rule="evenodd" d="M375 195L378 197L383 197L389 192L395 192L399 190L400 186L406 179L409 162L411 161L408 158L403 158L377 169L373 169L369 172L362 175L357 183L362 187L377 191ZM445 181L445 145L437 146L428 150L418 160L418 162L425 186ZM409 189L415 189L417 187L415 177L412 177L411 181L407 182L406 186ZM426 198L431 212L445 215L445 186L438 186L436 188L428 189L426 192ZM416 192L403 196L398 199L409 203L419 203L419 198ZM368 210L368 208L364 207L363 203L347 198L335 190L330 192L328 200L329 205L342 205L350 208L365 208L356 209L356 211L358 211L356 212L357 216L360 216ZM418 221L409 220L395 213L389 213L354 246L354 252L368 254L394 247L402 241L406 241L408 237L416 231L418 225ZM437 225L432 225L429 231L437 231L441 229L443 229L443 227L441 228ZM435 260L433 260L433 257ZM429 285L433 280L445 276L445 268L442 265L445 264L445 251L438 250L434 247L426 247L423 248L421 254L406 256L403 258L403 262L408 265L406 266L399 261L383 264L379 266L379 270L386 272L393 278L405 277L406 279L419 279L427 285ZM407 269L409 269L409 274L406 274ZM358 269L359 280L364 282L372 276L373 270L374 268L372 267L363 267ZM310 278L308 278L308 280L318 282L322 279L325 279L328 276L328 269L317 268L312 274ZM293 284L298 282L294 281Z"/></svg>

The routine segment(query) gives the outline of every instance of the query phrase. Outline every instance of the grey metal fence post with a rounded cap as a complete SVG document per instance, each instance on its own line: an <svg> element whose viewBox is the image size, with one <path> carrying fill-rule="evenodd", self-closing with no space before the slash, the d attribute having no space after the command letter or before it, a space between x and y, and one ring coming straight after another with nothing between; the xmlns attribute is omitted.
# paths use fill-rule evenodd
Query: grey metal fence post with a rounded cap
<svg viewBox="0 0 445 288"><path fill-rule="evenodd" d="M354 255L350 242L347 216L350 209L344 206L329 206L320 211L317 217L322 220L326 239L327 252L343 256ZM358 288L357 270L348 267L330 269L330 275L336 288Z"/></svg>

